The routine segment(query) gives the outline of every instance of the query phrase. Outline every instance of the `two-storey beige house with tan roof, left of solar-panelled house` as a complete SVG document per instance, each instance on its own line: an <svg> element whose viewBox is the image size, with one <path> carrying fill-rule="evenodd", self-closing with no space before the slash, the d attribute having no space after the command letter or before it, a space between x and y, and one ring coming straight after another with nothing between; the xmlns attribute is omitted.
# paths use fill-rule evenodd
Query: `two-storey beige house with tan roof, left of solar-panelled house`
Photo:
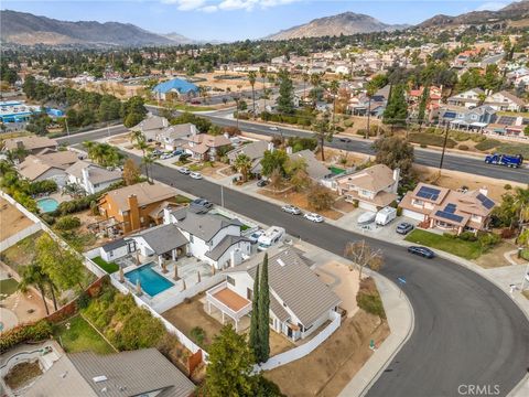
<svg viewBox="0 0 529 397"><path fill-rule="evenodd" d="M385 164L376 164L354 174L337 176L335 189L345 201L358 204L358 207L378 211L397 200L400 170Z"/></svg>

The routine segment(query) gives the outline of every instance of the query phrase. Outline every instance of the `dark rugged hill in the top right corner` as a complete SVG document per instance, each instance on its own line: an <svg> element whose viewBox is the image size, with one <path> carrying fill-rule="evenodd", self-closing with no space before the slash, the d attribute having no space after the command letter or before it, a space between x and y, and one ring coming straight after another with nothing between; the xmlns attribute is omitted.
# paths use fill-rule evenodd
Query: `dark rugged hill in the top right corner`
<svg viewBox="0 0 529 397"><path fill-rule="evenodd" d="M529 0L512 2L498 11L472 11L457 17L435 15L418 28L436 28L460 24L483 24L494 21L521 20L529 18Z"/></svg>

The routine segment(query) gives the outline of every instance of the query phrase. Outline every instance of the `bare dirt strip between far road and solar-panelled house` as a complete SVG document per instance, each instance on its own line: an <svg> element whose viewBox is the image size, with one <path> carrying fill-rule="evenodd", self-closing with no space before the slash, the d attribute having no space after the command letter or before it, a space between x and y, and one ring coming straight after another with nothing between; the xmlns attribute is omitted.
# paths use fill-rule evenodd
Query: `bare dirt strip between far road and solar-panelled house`
<svg viewBox="0 0 529 397"><path fill-rule="evenodd" d="M462 186L468 190L476 190L486 186L488 189L488 196L496 202L501 201L501 195L506 193L506 182L494 178L473 175L464 172L443 170L439 178L438 170L429 167L415 165L415 171L419 173L419 179L427 183L433 183L438 186L457 190ZM509 182L514 186L523 186L516 182Z"/></svg>

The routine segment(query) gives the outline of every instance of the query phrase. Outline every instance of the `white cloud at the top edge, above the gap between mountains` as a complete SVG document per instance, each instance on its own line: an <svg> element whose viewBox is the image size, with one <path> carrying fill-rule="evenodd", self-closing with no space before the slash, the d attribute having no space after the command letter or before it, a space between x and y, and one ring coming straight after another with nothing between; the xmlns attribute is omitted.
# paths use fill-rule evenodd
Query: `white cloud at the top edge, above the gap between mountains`
<svg viewBox="0 0 529 397"><path fill-rule="evenodd" d="M176 4L181 11L215 12L218 10L247 10L270 8L301 0L162 0L164 3Z"/></svg>

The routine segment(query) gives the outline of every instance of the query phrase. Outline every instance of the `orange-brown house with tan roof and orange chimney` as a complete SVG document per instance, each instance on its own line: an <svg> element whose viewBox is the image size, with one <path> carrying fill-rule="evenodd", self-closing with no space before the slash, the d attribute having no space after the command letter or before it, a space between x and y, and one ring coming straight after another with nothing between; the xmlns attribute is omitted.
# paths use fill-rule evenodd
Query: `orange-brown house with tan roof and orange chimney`
<svg viewBox="0 0 529 397"><path fill-rule="evenodd" d="M177 191L148 182L107 192L99 198L99 213L114 218L123 233L130 233L162 222L163 207L173 202Z"/></svg>

